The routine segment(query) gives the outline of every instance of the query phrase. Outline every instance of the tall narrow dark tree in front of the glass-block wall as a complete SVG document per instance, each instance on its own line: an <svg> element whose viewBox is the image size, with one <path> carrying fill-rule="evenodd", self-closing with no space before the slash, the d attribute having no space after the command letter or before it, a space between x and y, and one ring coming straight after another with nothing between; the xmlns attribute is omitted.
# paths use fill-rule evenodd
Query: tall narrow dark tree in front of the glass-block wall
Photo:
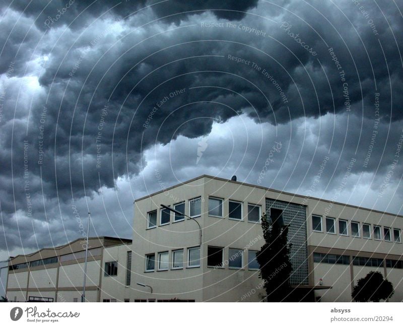
<svg viewBox="0 0 403 327"><path fill-rule="evenodd" d="M271 224L266 214L261 217L265 243L256 256L267 302L292 301L290 287L292 267L289 258L291 244L287 242L288 225L283 225L277 220Z"/></svg>

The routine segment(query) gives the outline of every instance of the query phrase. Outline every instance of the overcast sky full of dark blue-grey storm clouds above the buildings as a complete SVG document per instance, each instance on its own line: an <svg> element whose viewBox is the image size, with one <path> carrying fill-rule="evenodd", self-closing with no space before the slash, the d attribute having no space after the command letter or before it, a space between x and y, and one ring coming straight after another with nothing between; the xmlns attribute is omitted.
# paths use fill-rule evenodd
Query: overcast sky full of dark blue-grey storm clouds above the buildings
<svg viewBox="0 0 403 327"><path fill-rule="evenodd" d="M201 174L403 214L401 2L27 3L0 0L0 259L88 211L131 238Z"/></svg>

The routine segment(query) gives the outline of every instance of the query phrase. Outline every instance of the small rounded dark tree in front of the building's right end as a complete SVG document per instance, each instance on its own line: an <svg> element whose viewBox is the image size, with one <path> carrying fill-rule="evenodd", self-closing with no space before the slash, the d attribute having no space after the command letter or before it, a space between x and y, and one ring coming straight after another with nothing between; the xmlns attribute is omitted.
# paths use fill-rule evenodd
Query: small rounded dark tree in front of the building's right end
<svg viewBox="0 0 403 327"><path fill-rule="evenodd" d="M379 302L379 300L390 298L393 293L392 283L383 279L381 273L370 272L358 280L351 296L356 302Z"/></svg>

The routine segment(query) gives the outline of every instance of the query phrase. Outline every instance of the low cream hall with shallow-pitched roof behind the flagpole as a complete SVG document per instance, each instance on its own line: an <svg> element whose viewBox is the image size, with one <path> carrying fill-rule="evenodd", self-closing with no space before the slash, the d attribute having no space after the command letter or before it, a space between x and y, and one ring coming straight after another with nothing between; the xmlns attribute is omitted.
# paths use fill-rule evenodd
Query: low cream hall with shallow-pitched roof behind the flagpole
<svg viewBox="0 0 403 327"><path fill-rule="evenodd" d="M86 301L123 302L128 299L131 240L90 237L88 243ZM9 301L81 302L86 245L86 239L80 238L69 244L13 257L7 282Z"/></svg>

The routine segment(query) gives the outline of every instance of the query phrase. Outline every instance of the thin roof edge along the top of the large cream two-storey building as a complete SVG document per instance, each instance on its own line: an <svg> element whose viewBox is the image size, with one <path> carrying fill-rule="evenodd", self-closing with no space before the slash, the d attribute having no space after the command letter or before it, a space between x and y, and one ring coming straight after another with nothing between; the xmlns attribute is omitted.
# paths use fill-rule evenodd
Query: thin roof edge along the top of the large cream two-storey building
<svg viewBox="0 0 403 327"><path fill-rule="evenodd" d="M290 192L281 191L281 190L274 189L274 188L263 187L263 186L260 186L260 185L254 185L254 184L239 182L239 181L235 181L235 180L231 180L231 179L225 179L225 178L216 177L216 176L211 176L211 175L206 175L206 174L200 175L200 176L198 176L198 177L195 177L195 178L186 180L186 181L181 182L181 183L179 183L179 184L176 184L176 185L173 185L173 186L164 188L164 189L162 189L162 190L160 190L160 191L151 193L151 194L149 194L149 195L146 195L145 197L136 199L135 202L141 201L141 200L144 200L144 199L147 199L147 198L150 198L150 197L153 197L154 195L160 194L160 193L162 193L162 192L165 192L165 191L167 191L167 190L173 189L173 188L178 187L178 186L180 186L180 185L185 185L185 184L188 184L188 183L190 183L190 182L192 182L192 181L195 181L195 180L201 179L201 178L205 178L205 177L211 178L211 179L216 179L216 180L221 180L221 181L225 181L225 182L230 182L230 183L234 183L234 184L238 184L238 185L245 185L245 186L260 188L260 189L264 189L264 190L266 190L266 191L277 192L277 193L280 193L280 194L286 194L286 195L290 195L291 197L297 197L297 198L303 198L303 199L308 198L308 199L312 199L312 200L323 201L323 202L327 202L327 203L333 203L333 204L336 204L336 205L347 206L347 207L351 207L351 208L362 209L362 210L367 210L367 211L370 211L370 212L376 212L376 213L380 213L380 214L386 214L386 215L391 215L391 216L394 216L394 217L401 217L401 218L403 218L402 215L392 214L392 213L385 212L385 211L380 211L380 210L375 210L375 209L369 209L369 208L365 208L365 207L359 207L359 206L349 205L349 204L346 204L346 203L335 202L335 201L330 201L330 200L320 199L320 198L315 198L315 197L307 197L306 195L301 195L301 194L297 194L297 193L290 193Z"/></svg>

